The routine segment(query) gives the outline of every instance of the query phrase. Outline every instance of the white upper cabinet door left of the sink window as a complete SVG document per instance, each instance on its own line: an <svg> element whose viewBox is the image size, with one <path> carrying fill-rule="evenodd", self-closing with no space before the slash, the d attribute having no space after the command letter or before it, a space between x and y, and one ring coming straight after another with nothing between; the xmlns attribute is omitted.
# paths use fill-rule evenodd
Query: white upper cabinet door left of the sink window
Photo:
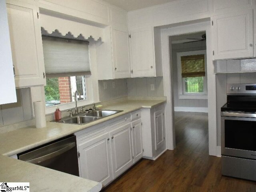
<svg viewBox="0 0 256 192"><path fill-rule="evenodd" d="M45 84L38 8L17 2L7 4L7 13L16 87Z"/></svg>

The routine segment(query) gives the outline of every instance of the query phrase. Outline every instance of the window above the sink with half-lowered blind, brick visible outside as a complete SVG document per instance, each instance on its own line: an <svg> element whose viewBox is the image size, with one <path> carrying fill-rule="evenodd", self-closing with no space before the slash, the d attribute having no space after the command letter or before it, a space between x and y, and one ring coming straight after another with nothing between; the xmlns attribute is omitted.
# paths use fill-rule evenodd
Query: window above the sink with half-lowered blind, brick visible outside
<svg viewBox="0 0 256 192"><path fill-rule="evenodd" d="M89 42L50 36L42 36L42 41L46 106L74 102L76 90L86 100L86 79L91 74Z"/></svg>

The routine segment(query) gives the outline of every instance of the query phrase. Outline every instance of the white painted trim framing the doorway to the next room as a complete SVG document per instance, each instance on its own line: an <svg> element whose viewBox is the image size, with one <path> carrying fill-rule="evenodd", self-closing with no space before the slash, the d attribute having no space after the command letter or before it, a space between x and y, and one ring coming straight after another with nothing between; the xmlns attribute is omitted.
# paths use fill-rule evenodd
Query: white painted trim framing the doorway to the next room
<svg viewBox="0 0 256 192"><path fill-rule="evenodd" d="M212 30L210 21L186 26L172 27L162 30L162 61L164 95L166 96L166 142L167 149L175 148L174 99L172 94L172 56L169 53L169 36L206 31L206 54L207 54L207 87L208 87L208 131L209 131L209 154L217 155L217 115L216 115L216 78L212 64ZM171 47L171 44L170 44Z"/></svg>

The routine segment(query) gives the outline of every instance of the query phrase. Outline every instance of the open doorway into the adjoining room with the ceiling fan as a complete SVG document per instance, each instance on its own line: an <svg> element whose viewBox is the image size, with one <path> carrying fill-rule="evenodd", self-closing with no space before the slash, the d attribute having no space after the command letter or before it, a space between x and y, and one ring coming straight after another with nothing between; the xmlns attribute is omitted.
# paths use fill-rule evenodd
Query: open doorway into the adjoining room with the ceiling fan
<svg viewBox="0 0 256 192"><path fill-rule="evenodd" d="M176 147L208 153L206 31L169 36L169 52Z"/></svg>

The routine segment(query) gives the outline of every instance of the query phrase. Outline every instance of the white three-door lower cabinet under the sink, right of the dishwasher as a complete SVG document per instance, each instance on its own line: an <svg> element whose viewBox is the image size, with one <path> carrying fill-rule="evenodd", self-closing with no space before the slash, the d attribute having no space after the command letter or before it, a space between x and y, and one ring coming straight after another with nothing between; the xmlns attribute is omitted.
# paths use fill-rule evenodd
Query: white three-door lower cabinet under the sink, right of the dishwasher
<svg viewBox="0 0 256 192"><path fill-rule="evenodd" d="M75 135L80 176L101 182L103 186L143 156L141 120L131 122L130 114Z"/></svg>

